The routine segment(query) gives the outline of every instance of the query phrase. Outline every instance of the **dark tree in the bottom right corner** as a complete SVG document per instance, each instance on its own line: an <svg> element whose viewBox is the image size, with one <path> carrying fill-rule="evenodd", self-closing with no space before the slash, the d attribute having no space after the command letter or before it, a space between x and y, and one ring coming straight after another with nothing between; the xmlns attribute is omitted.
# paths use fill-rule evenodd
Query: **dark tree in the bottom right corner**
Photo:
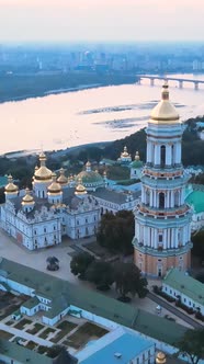
<svg viewBox="0 0 204 364"><path fill-rule="evenodd" d="M181 341L177 343L177 355L186 355L192 364L197 364L204 359L204 328L186 330Z"/></svg>

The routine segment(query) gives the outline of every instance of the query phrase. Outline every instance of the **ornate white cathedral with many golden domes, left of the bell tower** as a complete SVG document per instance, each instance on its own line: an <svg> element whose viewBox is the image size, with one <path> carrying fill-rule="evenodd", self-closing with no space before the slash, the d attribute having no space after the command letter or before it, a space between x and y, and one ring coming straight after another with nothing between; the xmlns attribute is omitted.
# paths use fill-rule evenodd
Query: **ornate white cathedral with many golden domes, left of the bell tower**
<svg viewBox="0 0 204 364"><path fill-rule="evenodd" d="M106 173L93 171L89 161L76 178L68 179L63 168L57 177L46 167L44 152L32 185L32 191L19 191L9 175L0 215L1 228L30 250L59 244L64 236L73 240L94 236L102 214L133 211L139 196L138 191L110 190Z"/></svg>

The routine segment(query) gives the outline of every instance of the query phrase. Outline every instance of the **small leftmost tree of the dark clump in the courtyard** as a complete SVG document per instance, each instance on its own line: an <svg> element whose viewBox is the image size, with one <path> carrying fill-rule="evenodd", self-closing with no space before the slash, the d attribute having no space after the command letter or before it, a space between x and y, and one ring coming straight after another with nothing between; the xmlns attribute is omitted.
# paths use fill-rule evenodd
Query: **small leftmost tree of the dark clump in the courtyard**
<svg viewBox="0 0 204 364"><path fill-rule="evenodd" d="M78 275L78 278L86 278L86 271L93 262L94 258L87 252L81 252L75 255L70 262L71 273Z"/></svg>

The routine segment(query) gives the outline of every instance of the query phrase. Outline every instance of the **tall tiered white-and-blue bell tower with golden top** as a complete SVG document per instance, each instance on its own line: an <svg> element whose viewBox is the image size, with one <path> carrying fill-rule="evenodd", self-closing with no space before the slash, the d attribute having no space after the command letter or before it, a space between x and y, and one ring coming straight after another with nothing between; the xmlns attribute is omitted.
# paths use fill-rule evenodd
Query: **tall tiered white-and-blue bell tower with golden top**
<svg viewBox="0 0 204 364"><path fill-rule="evenodd" d="M146 129L147 159L135 211L134 261L149 276L191 266L192 209L184 202L189 177L181 163L182 130L165 83Z"/></svg>

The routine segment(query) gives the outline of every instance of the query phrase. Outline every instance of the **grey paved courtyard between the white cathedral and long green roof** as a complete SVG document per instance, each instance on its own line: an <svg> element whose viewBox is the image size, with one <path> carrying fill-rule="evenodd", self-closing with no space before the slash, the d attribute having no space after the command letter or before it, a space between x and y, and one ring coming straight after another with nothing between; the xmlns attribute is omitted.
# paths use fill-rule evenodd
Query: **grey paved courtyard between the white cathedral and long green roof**
<svg viewBox="0 0 204 364"><path fill-rule="evenodd" d="M82 240L81 242L88 242L88 240ZM80 246L80 243L78 243ZM70 261L71 261L71 254L75 253L73 247L75 241L70 239L65 239L64 242L58 247L53 247L48 249L42 249L37 251L29 251L25 248L19 246L13 238L9 237L4 231L0 229L0 257L7 258L9 260L15 261L18 263L31 266L33 269L36 269L38 271L48 273L50 275L55 275L59 278L67 280L73 284L77 285L83 285L91 289L93 289L93 286L89 282L80 281L78 280L73 274L70 272ZM59 270L55 272L47 271L46 269L46 259L47 257L55 255L59 260ZM150 282L151 284L158 284L157 281ZM117 297L117 294L114 289L105 293L110 297ZM135 297L132 302L132 305L135 305L138 308L141 308L144 310L147 310L151 314L158 315L156 312L157 305L149 299L148 297L144 299L139 299L138 297ZM177 316L172 315L165 308L161 310L160 316L165 317L166 315L169 315L172 319L174 319L178 323L188 326L186 322L179 319Z"/></svg>

